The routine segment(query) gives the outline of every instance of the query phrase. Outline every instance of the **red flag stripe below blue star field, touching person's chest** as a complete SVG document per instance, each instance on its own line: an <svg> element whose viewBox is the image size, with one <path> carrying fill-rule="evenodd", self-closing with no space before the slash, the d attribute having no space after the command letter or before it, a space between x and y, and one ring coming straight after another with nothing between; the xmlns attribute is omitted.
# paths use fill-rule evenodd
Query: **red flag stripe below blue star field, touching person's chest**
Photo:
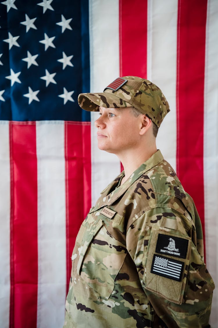
<svg viewBox="0 0 218 328"><path fill-rule="evenodd" d="M65 122L67 291L79 227L91 207L91 125Z"/></svg>

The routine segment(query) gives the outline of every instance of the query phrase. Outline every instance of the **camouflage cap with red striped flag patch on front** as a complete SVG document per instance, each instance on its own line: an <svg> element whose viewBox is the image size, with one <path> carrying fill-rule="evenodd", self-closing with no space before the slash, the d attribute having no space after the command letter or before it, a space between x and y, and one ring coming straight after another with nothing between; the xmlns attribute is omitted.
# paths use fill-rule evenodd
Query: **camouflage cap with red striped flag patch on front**
<svg viewBox="0 0 218 328"><path fill-rule="evenodd" d="M118 77L101 93L80 93L79 106L90 112L106 108L134 107L146 114L158 127L170 111L161 90L152 82L137 76Z"/></svg>

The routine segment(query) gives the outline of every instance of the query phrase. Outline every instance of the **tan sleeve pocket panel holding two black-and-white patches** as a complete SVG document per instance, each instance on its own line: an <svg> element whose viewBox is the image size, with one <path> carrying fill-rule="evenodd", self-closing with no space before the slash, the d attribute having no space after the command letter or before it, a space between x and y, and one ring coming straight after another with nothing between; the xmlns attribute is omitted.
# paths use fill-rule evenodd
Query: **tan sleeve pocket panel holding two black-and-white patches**
<svg viewBox="0 0 218 328"><path fill-rule="evenodd" d="M185 258L181 253L183 244L187 245ZM177 245L181 248L180 253ZM180 233L166 228L152 227L148 251L145 252L143 260L146 268L143 277L144 288L181 304L186 287L189 251L188 237L184 238Z"/></svg>

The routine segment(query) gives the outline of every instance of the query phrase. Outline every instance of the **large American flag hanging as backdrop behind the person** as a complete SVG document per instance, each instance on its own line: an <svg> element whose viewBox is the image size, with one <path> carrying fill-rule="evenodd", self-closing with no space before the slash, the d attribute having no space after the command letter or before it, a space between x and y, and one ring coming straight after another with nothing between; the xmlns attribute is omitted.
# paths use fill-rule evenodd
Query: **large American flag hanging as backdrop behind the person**
<svg viewBox="0 0 218 328"><path fill-rule="evenodd" d="M79 226L120 173L80 92L145 77L171 112L157 145L193 197L218 273L218 1L0 2L0 327L59 328ZM217 327L214 291L211 326Z"/></svg>

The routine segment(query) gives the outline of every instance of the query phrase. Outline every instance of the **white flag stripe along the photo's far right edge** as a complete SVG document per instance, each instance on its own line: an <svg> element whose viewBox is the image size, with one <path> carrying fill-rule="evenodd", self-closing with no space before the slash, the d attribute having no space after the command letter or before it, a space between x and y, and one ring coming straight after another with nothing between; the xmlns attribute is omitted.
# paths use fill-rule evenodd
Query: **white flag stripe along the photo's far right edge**
<svg viewBox="0 0 218 328"><path fill-rule="evenodd" d="M209 0L206 30L204 110L205 239L208 270L218 285L218 1ZM213 293L210 324L218 322L218 289Z"/></svg>

